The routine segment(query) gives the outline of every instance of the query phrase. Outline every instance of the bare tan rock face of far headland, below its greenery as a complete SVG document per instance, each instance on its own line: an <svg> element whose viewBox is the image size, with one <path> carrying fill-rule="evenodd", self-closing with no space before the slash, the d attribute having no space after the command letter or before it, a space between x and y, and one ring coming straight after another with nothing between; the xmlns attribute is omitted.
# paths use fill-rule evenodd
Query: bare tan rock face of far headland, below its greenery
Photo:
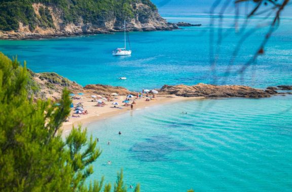
<svg viewBox="0 0 292 192"><path fill-rule="evenodd" d="M88 22L82 17L75 22L65 22L64 11L52 4L41 3L32 4L36 18L36 26L24 25L19 21L18 30L0 31L0 39L40 39L53 37L67 37L78 35L93 35L113 33L123 30L123 21L118 19L113 13L107 18L102 18L100 22ZM172 30L178 28L176 24L168 23L163 19L157 9L142 3L132 6L134 17L127 19L128 31L153 31ZM40 10L47 10L46 18ZM50 21L48 21L48 19Z"/></svg>

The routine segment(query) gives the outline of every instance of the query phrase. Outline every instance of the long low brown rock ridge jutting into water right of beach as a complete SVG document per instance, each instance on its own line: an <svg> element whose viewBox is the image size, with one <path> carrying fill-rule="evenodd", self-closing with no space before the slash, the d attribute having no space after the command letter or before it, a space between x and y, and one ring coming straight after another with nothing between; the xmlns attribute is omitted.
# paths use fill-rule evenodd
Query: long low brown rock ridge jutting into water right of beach
<svg viewBox="0 0 292 192"><path fill-rule="evenodd" d="M207 85L199 83L193 86L164 85L160 89L160 94L205 98L268 98L273 93L242 85Z"/></svg>

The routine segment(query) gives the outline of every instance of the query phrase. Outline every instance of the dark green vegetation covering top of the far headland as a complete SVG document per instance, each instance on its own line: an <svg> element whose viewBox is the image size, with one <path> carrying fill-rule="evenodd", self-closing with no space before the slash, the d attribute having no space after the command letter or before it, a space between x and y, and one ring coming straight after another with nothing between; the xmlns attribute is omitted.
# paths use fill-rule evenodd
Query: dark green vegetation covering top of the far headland
<svg viewBox="0 0 292 192"><path fill-rule="evenodd" d="M35 13L33 4L39 3L45 6L41 6ZM36 26L54 28L52 12L60 14L64 25L77 24L80 20L102 25L113 18L130 20L138 14L147 16L137 12L138 4L148 6L151 11L157 10L150 0L0 0L0 30L18 30L19 22L29 26L31 31Z"/></svg>

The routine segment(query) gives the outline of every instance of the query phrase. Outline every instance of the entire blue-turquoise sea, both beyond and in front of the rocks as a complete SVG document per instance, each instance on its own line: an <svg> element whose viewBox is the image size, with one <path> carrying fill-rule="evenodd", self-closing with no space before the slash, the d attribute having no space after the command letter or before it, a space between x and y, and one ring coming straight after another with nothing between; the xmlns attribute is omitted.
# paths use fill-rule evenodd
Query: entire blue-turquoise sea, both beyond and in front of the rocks
<svg viewBox="0 0 292 192"><path fill-rule="evenodd" d="M169 9L162 11L167 21L202 26L131 32L127 57L112 56L123 46L123 33L0 40L0 51L34 72L56 72L81 85L134 91L165 84L292 85L292 18L281 19L264 53L246 65L271 19ZM292 96L286 94L177 102L91 122L88 133L99 138L102 154L89 180L104 176L114 184L123 169L125 184L140 183L141 191L291 191L291 110Z"/></svg>

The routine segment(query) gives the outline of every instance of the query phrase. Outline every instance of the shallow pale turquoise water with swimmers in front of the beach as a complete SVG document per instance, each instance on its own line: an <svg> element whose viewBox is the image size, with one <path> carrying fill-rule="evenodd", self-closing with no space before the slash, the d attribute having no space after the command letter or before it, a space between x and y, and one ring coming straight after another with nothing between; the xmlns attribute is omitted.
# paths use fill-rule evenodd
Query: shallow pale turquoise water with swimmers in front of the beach
<svg viewBox="0 0 292 192"><path fill-rule="evenodd" d="M114 183L123 168L127 186L141 191L291 191L291 102L179 102L92 123L103 152L91 179Z"/></svg>

